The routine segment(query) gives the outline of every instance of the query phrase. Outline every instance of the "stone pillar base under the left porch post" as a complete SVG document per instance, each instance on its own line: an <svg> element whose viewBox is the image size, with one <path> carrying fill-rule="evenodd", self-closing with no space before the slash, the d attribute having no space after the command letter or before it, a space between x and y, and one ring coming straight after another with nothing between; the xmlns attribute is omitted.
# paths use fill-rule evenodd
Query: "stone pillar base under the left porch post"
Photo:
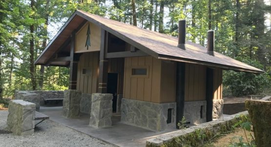
<svg viewBox="0 0 271 147"><path fill-rule="evenodd" d="M80 101L82 92L78 90L65 90L63 99L63 115L68 118L78 117L80 114Z"/></svg>

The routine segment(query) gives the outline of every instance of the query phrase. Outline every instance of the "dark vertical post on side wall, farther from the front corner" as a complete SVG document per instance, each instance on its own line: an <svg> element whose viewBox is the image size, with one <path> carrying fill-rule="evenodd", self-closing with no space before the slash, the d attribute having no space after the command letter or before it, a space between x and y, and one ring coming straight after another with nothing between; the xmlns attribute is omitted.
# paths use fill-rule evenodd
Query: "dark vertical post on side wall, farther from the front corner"
<svg viewBox="0 0 271 147"><path fill-rule="evenodd" d="M214 70L207 68L206 72L206 121L212 121L213 112L213 75Z"/></svg>

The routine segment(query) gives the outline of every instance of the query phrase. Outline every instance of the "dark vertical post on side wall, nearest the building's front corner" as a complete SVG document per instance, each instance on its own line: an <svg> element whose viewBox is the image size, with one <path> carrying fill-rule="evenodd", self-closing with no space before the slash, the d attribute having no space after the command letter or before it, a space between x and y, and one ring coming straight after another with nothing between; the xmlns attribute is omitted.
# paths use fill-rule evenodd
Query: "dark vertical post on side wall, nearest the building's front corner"
<svg viewBox="0 0 271 147"><path fill-rule="evenodd" d="M185 73L186 63L177 62L176 70L176 128L182 120L185 111Z"/></svg>

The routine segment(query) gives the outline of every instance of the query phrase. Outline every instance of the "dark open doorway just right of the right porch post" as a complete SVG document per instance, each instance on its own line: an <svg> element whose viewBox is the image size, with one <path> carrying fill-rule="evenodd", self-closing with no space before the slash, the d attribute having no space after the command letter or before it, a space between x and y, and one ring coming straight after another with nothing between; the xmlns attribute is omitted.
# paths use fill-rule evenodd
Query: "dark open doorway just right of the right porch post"
<svg viewBox="0 0 271 147"><path fill-rule="evenodd" d="M118 74L108 73L107 77L107 93L113 94L113 112L117 111L117 93L118 93Z"/></svg>

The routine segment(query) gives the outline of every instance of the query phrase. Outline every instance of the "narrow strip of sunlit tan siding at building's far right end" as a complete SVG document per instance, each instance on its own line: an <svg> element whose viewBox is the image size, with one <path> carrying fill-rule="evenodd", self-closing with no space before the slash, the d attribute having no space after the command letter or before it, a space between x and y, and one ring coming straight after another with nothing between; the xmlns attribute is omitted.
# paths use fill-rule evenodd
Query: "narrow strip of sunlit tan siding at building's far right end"
<svg viewBox="0 0 271 147"><path fill-rule="evenodd" d="M213 99L222 99L222 69L214 69L214 80L213 80Z"/></svg>

